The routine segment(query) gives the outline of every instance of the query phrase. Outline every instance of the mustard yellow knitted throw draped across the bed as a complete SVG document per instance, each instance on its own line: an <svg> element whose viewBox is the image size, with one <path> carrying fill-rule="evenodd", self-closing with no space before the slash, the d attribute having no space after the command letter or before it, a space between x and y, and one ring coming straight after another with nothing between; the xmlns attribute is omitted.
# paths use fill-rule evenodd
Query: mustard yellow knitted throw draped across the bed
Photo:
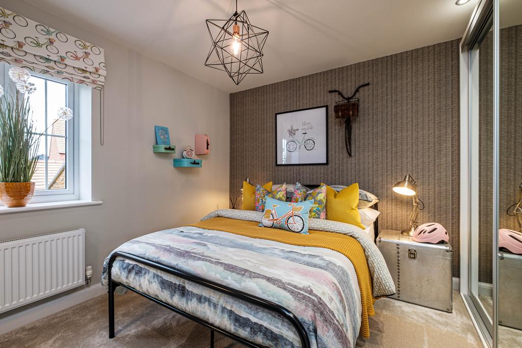
<svg viewBox="0 0 522 348"><path fill-rule="evenodd" d="M372 295L372 279L366 256L361 244L355 238L340 233L312 230L309 231L310 234L291 233L278 229L259 227L258 222L254 221L234 220L221 217L211 218L191 226L251 238L267 239L269 241L291 245L327 248L345 255L350 259L355 268L359 289L361 291L362 322L359 333L365 338L370 337L368 317L375 314L373 308L375 298Z"/></svg>

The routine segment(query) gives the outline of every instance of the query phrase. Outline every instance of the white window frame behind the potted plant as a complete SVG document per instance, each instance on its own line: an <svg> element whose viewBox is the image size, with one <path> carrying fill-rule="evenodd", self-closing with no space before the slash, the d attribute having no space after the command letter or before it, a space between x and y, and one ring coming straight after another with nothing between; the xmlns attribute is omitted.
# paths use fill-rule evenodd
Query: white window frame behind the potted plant
<svg viewBox="0 0 522 348"><path fill-rule="evenodd" d="M9 78L8 71L12 66L4 64L4 69L0 69L0 80L3 81L3 86L6 90L15 90L15 84ZM70 201L79 199L79 108L78 103L78 86L70 81L58 79L49 75L43 75L33 73L31 75L46 80L62 83L67 86L67 107L73 110L74 117L67 121L66 128L66 142L65 142L65 170L66 170L66 189L46 189L46 190L35 190L34 196L31 199L31 203L44 203L44 202L57 202L57 201ZM46 99L47 95L45 95ZM41 141L45 141L45 153L48 152L48 142L46 136L42 135ZM47 171L45 171L47 172ZM47 173L45 174L47 175ZM47 184L48 180L46 180Z"/></svg>

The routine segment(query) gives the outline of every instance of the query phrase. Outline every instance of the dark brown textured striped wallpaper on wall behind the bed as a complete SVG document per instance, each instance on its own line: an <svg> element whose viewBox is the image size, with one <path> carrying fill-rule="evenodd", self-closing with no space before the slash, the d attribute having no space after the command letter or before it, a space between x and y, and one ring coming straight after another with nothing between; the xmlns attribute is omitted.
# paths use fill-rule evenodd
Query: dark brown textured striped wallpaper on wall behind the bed
<svg viewBox="0 0 522 348"><path fill-rule="evenodd" d="M360 187L381 202L379 229L408 226L411 200L392 191L408 173L418 183L425 209L419 222L440 222L453 246L459 274L459 60L458 40L272 83L230 95L230 195L242 180L255 183L325 182ZM304 57L305 58L305 57ZM255 78L255 76L251 77ZM338 97L361 90L353 124L352 155L334 112ZM275 114L329 105L329 165L275 165ZM240 200L240 199L239 199ZM238 200L238 201L239 201Z"/></svg>

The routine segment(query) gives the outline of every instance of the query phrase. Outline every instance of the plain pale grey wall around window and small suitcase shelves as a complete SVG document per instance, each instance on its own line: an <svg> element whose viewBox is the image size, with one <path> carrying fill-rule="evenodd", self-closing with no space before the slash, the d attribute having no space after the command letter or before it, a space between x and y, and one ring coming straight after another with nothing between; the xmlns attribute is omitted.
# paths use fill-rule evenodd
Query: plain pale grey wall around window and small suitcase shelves
<svg viewBox="0 0 522 348"><path fill-rule="evenodd" d="M103 205L0 215L0 240L84 227L86 265L98 283L103 259L118 245L228 208L228 93L25 2L1 5L103 47L108 76L103 147L96 101L92 118L92 198ZM171 154L152 153L155 125L169 127L175 157L194 145L194 134L208 134L203 167L175 169Z"/></svg>

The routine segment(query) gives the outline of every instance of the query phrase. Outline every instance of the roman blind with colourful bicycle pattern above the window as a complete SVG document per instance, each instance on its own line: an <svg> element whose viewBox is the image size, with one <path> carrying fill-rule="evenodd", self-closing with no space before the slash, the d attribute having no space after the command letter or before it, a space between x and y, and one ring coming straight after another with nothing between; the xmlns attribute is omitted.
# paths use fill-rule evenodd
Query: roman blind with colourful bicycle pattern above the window
<svg viewBox="0 0 522 348"><path fill-rule="evenodd" d="M101 47L0 7L0 62L102 89Z"/></svg>

